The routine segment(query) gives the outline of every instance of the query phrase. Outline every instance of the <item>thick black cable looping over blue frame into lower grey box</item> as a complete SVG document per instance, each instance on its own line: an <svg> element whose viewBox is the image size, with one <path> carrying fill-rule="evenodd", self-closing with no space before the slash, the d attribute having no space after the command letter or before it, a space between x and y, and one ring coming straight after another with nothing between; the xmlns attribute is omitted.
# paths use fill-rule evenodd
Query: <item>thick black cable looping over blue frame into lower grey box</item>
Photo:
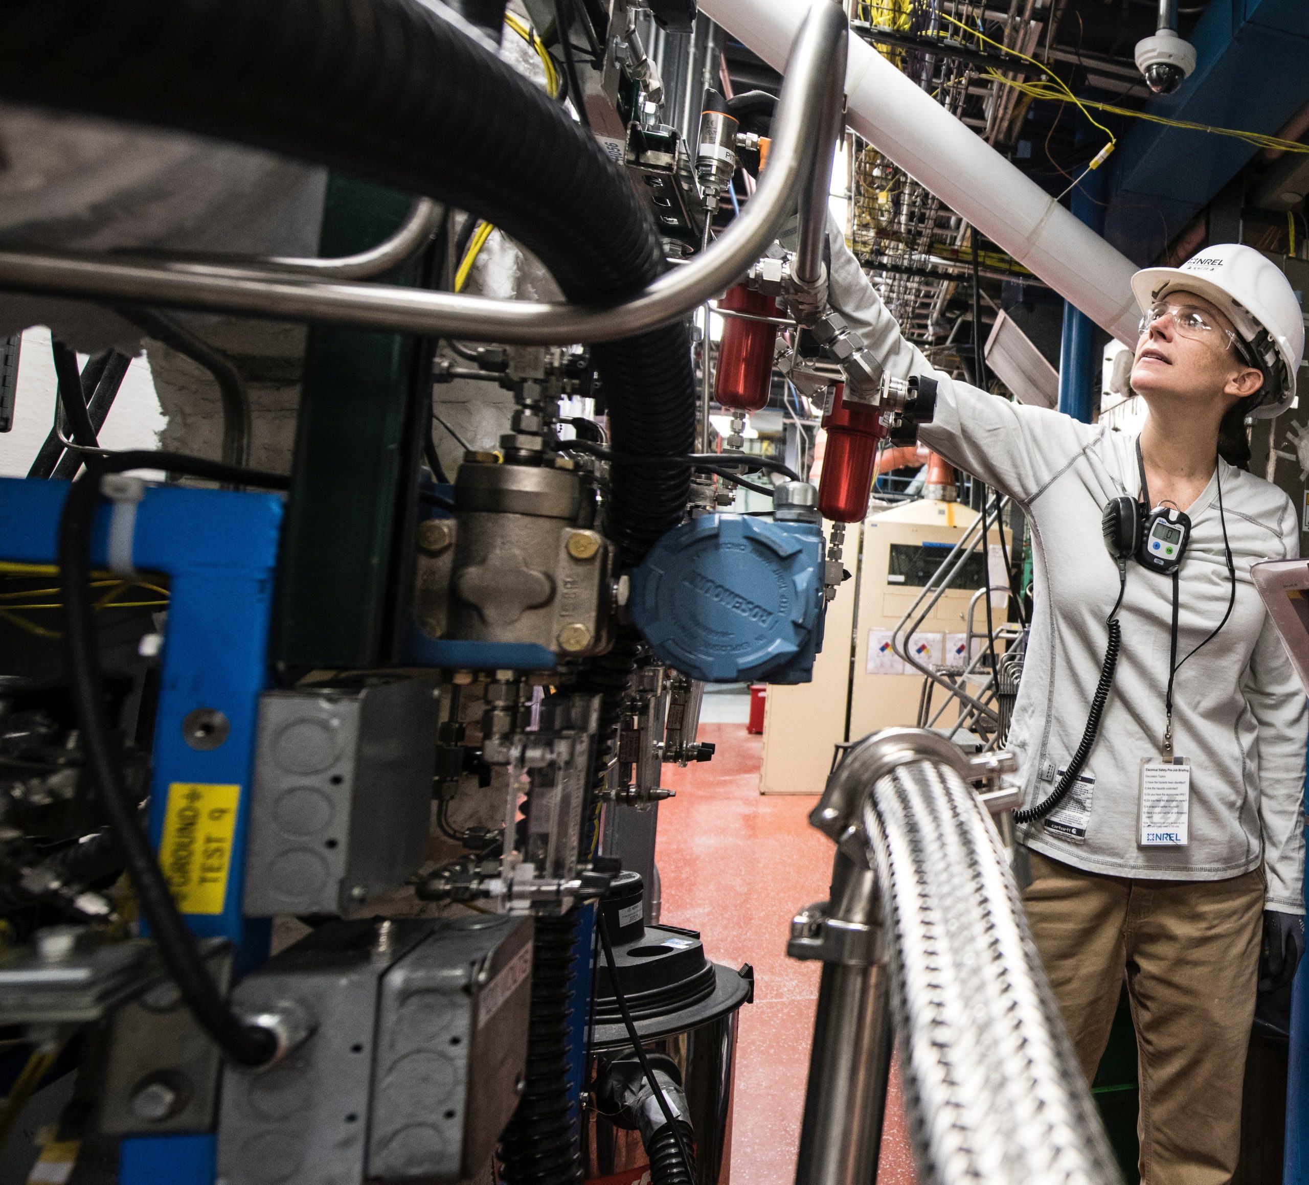
<svg viewBox="0 0 1309 1185"><path fill-rule="evenodd" d="M285 490L291 483L280 474L233 469L177 453L134 450L89 456L86 471L68 491L59 521L59 583L64 604L69 685L101 807L122 850L127 875L136 890L141 913L151 924L164 965L177 982L187 1007L228 1057L243 1066L260 1066L274 1057L278 1040L271 1030L250 1025L237 1016L209 977L195 939L173 900L154 850L137 824L136 805L127 790L120 754L105 711L105 676L92 617L92 526L103 477L131 469L162 469L187 477L274 490Z"/></svg>

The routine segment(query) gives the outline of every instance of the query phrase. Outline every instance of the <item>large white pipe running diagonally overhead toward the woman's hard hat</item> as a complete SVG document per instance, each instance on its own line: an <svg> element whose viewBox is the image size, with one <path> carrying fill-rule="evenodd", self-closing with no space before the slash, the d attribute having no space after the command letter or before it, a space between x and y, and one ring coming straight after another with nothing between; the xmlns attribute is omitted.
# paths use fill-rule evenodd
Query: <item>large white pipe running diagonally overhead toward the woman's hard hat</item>
<svg viewBox="0 0 1309 1185"><path fill-rule="evenodd" d="M808 8L700 0L700 12L775 69L785 67ZM1136 266L857 37L850 38L846 122L1098 326L1136 344Z"/></svg>

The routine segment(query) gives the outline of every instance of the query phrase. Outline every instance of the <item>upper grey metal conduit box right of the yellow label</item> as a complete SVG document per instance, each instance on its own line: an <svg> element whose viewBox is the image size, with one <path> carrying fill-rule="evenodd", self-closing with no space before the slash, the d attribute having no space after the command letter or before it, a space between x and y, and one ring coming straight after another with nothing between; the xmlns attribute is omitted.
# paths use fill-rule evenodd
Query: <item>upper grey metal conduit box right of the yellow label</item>
<svg viewBox="0 0 1309 1185"><path fill-rule="evenodd" d="M335 914L427 859L432 680L264 691L245 913Z"/></svg>

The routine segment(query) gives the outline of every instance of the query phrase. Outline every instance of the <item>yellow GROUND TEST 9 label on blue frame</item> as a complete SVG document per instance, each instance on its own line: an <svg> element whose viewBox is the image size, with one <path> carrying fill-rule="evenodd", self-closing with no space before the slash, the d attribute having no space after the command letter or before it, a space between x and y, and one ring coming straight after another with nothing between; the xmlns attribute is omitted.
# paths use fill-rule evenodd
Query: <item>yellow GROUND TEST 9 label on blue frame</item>
<svg viewBox="0 0 1309 1185"><path fill-rule="evenodd" d="M183 914L221 914L232 867L240 786L174 782L160 864Z"/></svg>

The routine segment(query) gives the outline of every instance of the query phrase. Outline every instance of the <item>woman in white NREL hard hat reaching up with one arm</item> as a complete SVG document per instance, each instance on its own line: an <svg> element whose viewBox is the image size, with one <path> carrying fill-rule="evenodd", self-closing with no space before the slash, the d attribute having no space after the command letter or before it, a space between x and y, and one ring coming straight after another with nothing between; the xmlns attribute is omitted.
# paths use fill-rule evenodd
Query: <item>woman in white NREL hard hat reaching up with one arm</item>
<svg viewBox="0 0 1309 1185"><path fill-rule="evenodd" d="M1138 272L1138 440L933 371L830 240L833 305L893 376L939 382L919 439L1031 528L1008 745L1029 923L1083 1070L1096 1074L1126 977L1143 1180L1228 1181L1257 989L1289 981L1304 949L1305 691L1250 583L1251 563L1299 555L1300 524L1276 486L1229 464L1249 458L1245 418L1295 395L1296 296L1246 246ZM1096 729L1111 614L1121 651Z"/></svg>

